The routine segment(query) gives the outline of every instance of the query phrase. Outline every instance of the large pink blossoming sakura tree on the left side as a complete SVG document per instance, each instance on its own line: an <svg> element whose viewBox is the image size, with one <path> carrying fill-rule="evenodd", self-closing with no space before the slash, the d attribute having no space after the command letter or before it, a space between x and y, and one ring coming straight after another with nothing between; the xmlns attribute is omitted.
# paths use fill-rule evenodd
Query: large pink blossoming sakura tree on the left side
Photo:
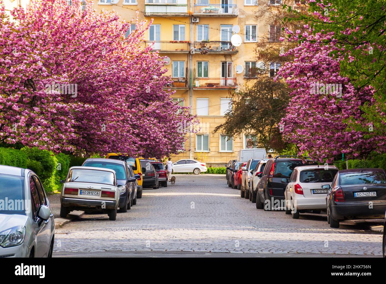
<svg viewBox="0 0 386 284"><path fill-rule="evenodd" d="M161 157L181 150L188 108L163 90L164 63L140 41L149 28L93 1L32 0L0 10L0 141L41 149Z"/></svg>

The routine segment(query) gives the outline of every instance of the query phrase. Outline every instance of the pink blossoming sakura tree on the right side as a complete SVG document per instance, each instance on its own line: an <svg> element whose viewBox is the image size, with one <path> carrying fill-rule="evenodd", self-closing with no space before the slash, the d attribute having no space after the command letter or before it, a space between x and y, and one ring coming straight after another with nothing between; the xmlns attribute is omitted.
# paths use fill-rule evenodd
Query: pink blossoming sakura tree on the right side
<svg viewBox="0 0 386 284"><path fill-rule="evenodd" d="M313 35L312 29L304 27L303 36L307 40L283 54L294 56L294 60L278 72L293 89L279 125L283 138L295 143L300 154L308 152L327 162L341 153L361 158L372 150L385 151L386 137L372 135L371 125L361 116L362 105L376 104L373 90L370 87L357 90L347 77L340 76L343 54L333 42L328 46L320 43L331 39L332 34ZM361 126L361 131L348 126L353 121Z"/></svg>

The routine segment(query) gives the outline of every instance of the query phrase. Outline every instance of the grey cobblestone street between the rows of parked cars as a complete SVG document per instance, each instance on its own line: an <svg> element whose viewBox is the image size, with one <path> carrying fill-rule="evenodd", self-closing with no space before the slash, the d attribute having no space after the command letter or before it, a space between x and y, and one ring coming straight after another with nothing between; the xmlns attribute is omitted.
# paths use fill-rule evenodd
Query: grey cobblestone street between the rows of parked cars
<svg viewBox="0 0 386 284"><path fill-rule="evenodd" d="M327 224L325 214L264 212L225 175L175 175L176 184L144 190L142 199L116 221L85 214L56 230L54 256L71 252L185 251L382 254L382 236L365 226ZM56 254L55 254L56 253Z"/></svg>

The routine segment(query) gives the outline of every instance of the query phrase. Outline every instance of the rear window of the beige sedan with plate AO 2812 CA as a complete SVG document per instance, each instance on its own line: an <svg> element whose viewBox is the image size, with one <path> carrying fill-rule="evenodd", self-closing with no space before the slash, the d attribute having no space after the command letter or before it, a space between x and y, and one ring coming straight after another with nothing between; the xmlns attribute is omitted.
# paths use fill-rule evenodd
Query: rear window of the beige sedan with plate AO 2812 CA
<svg viewBox="0 0 386 284"><path fill-rule="evenodd" d="M114 184L114 174L103 170L74 168L68 173L66 182L90 182L96 184Z"/></svg>

